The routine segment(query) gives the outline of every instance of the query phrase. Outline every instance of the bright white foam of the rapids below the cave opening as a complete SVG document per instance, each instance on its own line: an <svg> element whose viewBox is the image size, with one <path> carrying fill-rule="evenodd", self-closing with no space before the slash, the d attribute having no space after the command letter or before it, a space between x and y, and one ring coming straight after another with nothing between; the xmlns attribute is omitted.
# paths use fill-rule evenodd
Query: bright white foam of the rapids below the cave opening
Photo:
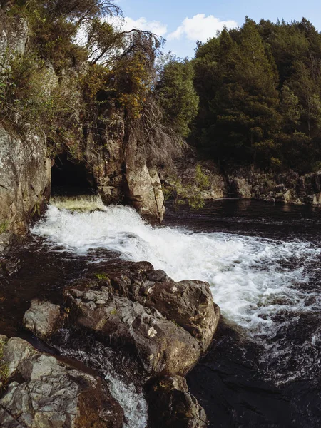
<svg viewBox="0 0 321 428"><path fill-rule="evenodd" d="M321 249L309 242L153 228L121 206L92 213L51 206L32 231L49 245L78 255L105 248L126 260L148 260L176 281L209 282L223 315L263 344L269 357L280 355L277 332L295 317L321 309L320 290L307 287L310 273L305 269Z"/></svg>

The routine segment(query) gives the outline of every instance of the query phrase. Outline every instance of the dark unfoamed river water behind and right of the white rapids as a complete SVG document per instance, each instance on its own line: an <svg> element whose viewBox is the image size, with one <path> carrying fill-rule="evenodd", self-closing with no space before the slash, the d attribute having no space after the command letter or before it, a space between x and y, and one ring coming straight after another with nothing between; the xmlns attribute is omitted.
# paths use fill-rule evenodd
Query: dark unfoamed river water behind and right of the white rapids
<svg viewBox="0 0 321 428"><path fill-rule="evenodd" d="M198 213L170 212L167 223L321 245L321 210L306 206L222 200ZM311 310L285 313L287 322L272 340L259 343L225 319L208 355L188 375L210 427L321 427L320 254L292 255L283 260L287 264L307 272L307 280L294 286L304 289Z"/></svg>

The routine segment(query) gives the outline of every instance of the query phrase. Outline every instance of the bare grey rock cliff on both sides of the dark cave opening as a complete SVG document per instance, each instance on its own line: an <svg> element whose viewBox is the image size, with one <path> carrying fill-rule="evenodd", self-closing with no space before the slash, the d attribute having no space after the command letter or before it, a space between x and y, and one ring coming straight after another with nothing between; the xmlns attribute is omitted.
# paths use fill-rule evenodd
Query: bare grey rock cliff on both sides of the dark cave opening
<svg viewBox="0 0 321 428"><path fill-rule="evenodd" d="M26 21L19 16L9 21L0 9L0 67L7 66L9 58L28 55L30 43ZM73 73L78 71L70 69L62 75L65 84ZM49 95L61 84L61 76L48 61L39 79ZM128 203L153 223L161 222L165 208L158 173L154 168L148 170L135 143L126 143L123 113L110 108L99 123L88 126L77 111L80 98L81 93L75 91L70 101L75 106L76 126L81 129L79 141L71 141L58 156L64 152L71 162L86 168L88 180L104 203ZM46 136L41 130L22 136L15 125L5 118L0 122L0 233L26 232L29 221L43 212L51 194L51 165L55 160L48 156Z"/></svg>

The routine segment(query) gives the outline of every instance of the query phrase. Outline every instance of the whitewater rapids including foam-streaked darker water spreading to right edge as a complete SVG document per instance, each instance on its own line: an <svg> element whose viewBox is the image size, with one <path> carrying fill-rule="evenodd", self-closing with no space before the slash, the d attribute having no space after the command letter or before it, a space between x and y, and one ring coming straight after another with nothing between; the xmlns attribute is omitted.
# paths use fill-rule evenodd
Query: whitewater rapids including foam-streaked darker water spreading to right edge
<svg viewBox="0 0 321 428"><path fill-rule="evenodd" d="M225 321L238 331L240 340L260 348L255 364L265 379L283 384L318 376L319 245L308 240L285 242L238 233L154 228L132 208L105 207L100 200L93 201L93 209L79 212L61 203L51 205L32 233L41 236L51 250L76 257L91 255L94 263L99 263L99 254L106 260L106 251L95 252L103 248L113 258L117 253L123 260L147 260L175 281L207 281Z"/></svg>

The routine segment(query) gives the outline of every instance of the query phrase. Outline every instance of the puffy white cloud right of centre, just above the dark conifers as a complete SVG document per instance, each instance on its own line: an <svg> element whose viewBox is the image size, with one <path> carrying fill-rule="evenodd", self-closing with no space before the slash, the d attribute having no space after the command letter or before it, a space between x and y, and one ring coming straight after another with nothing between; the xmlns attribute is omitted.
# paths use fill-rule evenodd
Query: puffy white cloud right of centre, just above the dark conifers
<svg viewBox="0 0 321 428"><path fill-rule="evenodd" d="M238 23L232 20L220 21L213 15L197 14L193 18L185 18L182 24L168 35L168 40L179 40L185 37L191 41L205 42L210 37L216 36L217 31L222 31L224 26L230 29L238 26Z"/></svg>

